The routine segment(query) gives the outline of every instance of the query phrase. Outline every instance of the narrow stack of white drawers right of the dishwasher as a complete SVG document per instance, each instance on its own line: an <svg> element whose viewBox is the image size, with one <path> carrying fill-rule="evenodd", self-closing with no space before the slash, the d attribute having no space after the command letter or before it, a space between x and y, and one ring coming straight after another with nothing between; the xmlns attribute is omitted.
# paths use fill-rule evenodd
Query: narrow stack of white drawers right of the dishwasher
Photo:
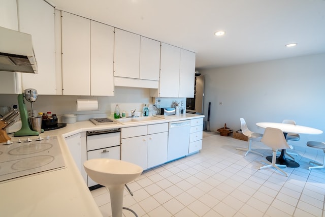
<svg viewBox="0 0 325 217"><path fill-rule="evenodd" d="M202 149L203 118L191 119L188 153Z"/></svg>

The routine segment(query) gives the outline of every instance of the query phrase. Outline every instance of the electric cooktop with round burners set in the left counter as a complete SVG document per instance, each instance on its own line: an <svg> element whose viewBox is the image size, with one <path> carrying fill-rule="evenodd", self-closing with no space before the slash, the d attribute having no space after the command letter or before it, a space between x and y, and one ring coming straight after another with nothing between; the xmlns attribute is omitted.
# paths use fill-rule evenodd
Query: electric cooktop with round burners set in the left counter
<svg viewBox="0 0 325 217"><path fill-rule="evenodd" d="M56 136L0 144L0 181L64 168Z"/></svg>

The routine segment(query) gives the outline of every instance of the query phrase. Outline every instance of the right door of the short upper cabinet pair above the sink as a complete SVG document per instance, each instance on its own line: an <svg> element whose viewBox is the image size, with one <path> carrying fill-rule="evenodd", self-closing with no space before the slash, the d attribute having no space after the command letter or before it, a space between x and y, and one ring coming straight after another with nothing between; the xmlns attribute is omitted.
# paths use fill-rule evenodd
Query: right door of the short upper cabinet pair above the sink
<svg viewBox="0 0 325 217"><path fill-rule="evenodd" d="M141 36L140 79L159 81L160 42Z"/></svg>

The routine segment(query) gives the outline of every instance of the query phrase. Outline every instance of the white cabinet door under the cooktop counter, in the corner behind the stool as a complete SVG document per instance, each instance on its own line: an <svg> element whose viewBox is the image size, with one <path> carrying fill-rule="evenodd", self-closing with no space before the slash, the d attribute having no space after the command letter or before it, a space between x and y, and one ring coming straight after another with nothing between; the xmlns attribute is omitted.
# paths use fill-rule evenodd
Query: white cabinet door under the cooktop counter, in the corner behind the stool
<svg viewBox="0 0 325 217"><path fill-rule="evenodd" d="M86 138L82 136L81 133L69 136L64 138L66 140L66 143L68 145L68 148L70 150L70 153L72 155L73 160L75 161L83 179L87 183L87 174L83 168L83 163L86 160L83 156L86 155L86 149L85 149L85 140Z"/></svg>

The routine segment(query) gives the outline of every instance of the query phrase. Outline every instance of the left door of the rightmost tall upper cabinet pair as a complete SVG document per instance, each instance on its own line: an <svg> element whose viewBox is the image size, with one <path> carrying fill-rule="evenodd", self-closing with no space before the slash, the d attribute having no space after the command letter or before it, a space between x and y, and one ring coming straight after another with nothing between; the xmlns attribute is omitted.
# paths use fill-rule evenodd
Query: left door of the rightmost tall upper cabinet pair
<svg viewBox="0 0 325 217"><path fill-rule="evenodd" d="M179 67L180 48L161 43L159 97L178 97Z"/></svg>

